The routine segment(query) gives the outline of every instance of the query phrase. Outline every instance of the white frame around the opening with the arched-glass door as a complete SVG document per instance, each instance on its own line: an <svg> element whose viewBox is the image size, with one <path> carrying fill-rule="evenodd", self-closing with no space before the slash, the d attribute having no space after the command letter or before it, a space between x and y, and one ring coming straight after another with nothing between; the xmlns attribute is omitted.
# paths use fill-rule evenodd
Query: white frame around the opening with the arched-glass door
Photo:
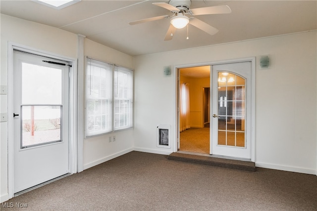
<svg viewBox="0 0 317 211"><path fill-rule="evenodd" d="M251 62L251 161L255 162L255 92L256 92L256 57L246 57L246 58L238 58L238 59L227 59L227 60L220 60L220 61L210 61L210 62L202 62L202 63L191 63L191 64L182 64L182 65L174 65L174 144L173 144L173 152L178 151L179 146L179 109L178 109L178 87L179 87L179 71L180 68L188 68L188 67L199 67L199 66L212 66L212 65L219 65L219 64L230 64L230 63L239 63L239 62ZM212 81L212 74L211 74L211 81ZM212 94L212 87L210 90ZM212 95L210 96L210 100L212 99ZM210 102L211 106L211 102ZM212 128L212 126L210 126Z"/></svg>

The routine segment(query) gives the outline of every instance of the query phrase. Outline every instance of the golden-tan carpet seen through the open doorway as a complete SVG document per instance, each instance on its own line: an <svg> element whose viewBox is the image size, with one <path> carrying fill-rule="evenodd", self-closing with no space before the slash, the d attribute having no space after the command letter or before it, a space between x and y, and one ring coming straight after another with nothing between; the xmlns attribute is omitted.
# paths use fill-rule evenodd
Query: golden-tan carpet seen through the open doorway
<svg viewBox="0 0 317 211"><path fill-rule="evenodd" d="M189 128L180 132L180 151L210 154L210 128Z"/></svg>

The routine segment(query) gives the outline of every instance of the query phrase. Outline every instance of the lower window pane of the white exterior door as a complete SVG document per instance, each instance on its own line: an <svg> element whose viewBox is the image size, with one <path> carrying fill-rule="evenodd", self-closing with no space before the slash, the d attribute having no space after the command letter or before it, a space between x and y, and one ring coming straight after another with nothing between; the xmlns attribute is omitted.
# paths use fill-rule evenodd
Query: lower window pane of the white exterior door
<svg viewBox="0 0 317 211"><path fill-rule="evenodd" d="M62 106L21 106L21 148L61 140Z"/></svg>

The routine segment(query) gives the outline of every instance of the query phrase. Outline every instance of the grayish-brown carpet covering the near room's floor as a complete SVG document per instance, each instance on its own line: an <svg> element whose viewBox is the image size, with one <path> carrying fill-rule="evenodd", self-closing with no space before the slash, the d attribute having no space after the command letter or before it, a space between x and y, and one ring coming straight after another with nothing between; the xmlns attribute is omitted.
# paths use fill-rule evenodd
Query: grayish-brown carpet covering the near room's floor
<svg viewBox="0 0 317 211"><path fill-rule="evenodd" d="M317 176L131 152L17 196L25 211L316 211Z"/></svg>

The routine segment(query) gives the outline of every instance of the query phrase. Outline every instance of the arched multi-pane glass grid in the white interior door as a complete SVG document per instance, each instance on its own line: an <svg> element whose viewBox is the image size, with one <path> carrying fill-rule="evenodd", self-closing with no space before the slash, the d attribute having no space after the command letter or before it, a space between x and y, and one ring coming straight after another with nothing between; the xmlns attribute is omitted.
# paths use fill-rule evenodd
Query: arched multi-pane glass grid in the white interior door
<svg viewBox="0 0 317 211"><path fill-rule="evenodd" d="M218 145L245 147L245 79L218 73Z"/></svg>

